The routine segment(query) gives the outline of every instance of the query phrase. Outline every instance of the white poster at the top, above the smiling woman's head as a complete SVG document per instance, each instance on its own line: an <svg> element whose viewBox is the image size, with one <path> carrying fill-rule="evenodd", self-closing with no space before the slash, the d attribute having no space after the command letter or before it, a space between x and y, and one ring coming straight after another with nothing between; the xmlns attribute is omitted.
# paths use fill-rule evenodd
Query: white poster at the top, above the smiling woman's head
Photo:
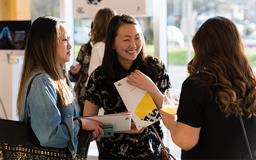
<svg viewBox="0 0 256 160"><path fill-rule="evenodd" d="M145 14L145 0L73 0L73 17L92 18L105 7L116 10L118 14Z"/></svg>

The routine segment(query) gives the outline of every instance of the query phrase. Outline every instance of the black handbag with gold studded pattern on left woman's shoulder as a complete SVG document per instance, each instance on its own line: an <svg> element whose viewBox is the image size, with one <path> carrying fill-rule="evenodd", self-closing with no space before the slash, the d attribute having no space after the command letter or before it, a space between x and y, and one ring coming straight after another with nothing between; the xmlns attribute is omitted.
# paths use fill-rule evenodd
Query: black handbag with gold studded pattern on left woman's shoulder
<svg viewBox="0 0 256 160"><path fill-rule="evenodd" d="M41 73L40 73L41 74ZM36 75L38 76L38 75ZM26 98L34 76L29 83ZM25 103L23 122L0 119L0 160L86 160L92 132L79 130L78 149L73 158L67 147L54 148L40 145L38 138L27 122L27 105Z"/></svg>

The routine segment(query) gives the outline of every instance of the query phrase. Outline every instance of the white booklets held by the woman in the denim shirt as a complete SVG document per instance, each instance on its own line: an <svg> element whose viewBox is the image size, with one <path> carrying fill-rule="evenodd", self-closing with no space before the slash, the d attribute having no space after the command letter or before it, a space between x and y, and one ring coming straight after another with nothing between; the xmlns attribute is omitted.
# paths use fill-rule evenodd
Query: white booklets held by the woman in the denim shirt
<svg viewBox="0 0 256 160"><path fill-rule="evenodd" d="M131 112L106 114L99 116L80 116L80 119L92 119L103 123L103 126L112 125L114 131L131 129Z"/></svg>

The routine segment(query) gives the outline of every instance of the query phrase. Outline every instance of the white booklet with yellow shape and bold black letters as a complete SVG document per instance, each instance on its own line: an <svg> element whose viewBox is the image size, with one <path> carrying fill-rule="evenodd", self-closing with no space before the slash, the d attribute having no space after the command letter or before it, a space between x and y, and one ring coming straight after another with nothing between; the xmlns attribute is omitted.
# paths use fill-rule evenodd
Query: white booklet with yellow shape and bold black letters
<svg viewBox="0 0 256 160"><path fill-rule="evenodd" d="M128 111L131 111L132 120L135 122L136 128L140 130L143 126L151 125L159 121L161 115L150 94L128 84L127 77L115 82L116 89L122 98Z"/></svg>

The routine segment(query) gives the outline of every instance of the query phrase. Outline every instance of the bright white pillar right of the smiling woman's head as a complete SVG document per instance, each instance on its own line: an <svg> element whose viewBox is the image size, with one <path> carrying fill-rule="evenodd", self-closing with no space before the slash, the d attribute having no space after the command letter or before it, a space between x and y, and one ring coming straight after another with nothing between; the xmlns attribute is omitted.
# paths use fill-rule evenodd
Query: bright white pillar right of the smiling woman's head
<svg viewBox="0 0 256 160"><path fill-rule="evenodd" d="M153 12L155 56L167 67L167 0L153 0Z"/></svg>

